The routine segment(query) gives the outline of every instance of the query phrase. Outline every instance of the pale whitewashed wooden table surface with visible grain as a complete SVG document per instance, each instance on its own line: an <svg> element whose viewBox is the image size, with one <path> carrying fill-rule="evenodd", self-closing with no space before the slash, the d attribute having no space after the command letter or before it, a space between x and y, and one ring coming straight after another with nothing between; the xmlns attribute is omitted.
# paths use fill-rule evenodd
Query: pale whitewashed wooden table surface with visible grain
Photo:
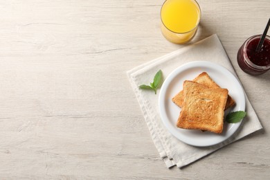
<svg viewBox="0 0 270 180"><path fill-rule="evenodd" d="M0 179L269 179L270 71L236 54L261 34L269 0L198 0L197 42L217 34L264 129L186 168L154 147L126 71L175 51L163 1L0 2Z"/></svg>

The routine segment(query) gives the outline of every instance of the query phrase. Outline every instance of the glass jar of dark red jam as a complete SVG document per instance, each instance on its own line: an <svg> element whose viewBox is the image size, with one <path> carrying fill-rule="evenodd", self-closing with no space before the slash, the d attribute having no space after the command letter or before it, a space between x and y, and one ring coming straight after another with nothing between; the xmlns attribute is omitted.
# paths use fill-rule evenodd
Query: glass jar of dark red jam
<svg viewBox="0 0 270 180"><path fill-rule="evenodd" d="M237 53L240 68L251 75L260 75L270 69L270 37L267 35L259 52L256 48L262 35L254 35L246 39Z"/></svg>

